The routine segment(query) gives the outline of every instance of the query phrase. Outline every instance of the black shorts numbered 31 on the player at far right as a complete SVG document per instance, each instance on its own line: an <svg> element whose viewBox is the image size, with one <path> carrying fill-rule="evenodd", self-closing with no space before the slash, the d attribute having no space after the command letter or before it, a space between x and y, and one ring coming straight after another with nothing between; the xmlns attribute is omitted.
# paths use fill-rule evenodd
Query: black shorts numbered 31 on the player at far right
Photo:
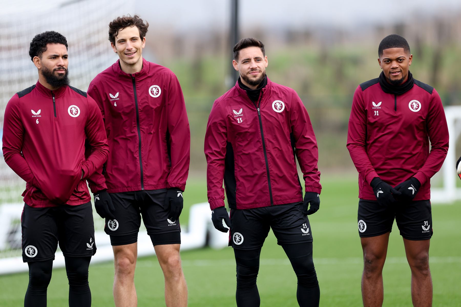
<svg viewBox="0 0 461 307"><path fill-rule="evenodd" d="M397 202L384 207L377 201L359 200L358 227L360 237L376 237L392 231L394 219L400 235L407 240L427 240L432 237L430 200Z"/></svg>

